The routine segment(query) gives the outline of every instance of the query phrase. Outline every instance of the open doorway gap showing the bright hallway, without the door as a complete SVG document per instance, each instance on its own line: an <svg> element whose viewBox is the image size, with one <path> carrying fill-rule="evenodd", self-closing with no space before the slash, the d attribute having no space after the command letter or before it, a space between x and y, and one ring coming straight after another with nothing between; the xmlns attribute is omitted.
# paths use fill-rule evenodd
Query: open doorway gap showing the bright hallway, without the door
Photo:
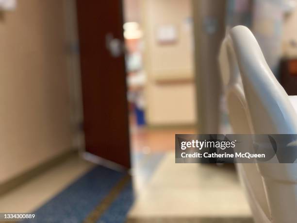
<svg viewBox="0 0 297 223"><path fill-rule="evenodd" d="M142 189L174 153L175 134L196 133L192 7L191 0L123 2L133 174Z"/></svg>

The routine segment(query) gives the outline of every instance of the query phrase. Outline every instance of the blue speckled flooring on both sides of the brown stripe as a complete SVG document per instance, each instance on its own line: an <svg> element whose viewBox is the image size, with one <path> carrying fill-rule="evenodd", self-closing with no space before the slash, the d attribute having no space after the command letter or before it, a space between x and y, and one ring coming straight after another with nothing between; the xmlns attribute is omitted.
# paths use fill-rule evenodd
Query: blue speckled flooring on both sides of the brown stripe
<svg viewBox="0 0 297 223"><path fill-rule="evenodd" d="M163 156L156 154L149 157L150 168L144 168L150 169L150 175ZM22 223L82 223L125 176L125 172L97 166L37 209L33 220ZM124 223L133 201L132 180L129 180L94 223Z"/></svg>

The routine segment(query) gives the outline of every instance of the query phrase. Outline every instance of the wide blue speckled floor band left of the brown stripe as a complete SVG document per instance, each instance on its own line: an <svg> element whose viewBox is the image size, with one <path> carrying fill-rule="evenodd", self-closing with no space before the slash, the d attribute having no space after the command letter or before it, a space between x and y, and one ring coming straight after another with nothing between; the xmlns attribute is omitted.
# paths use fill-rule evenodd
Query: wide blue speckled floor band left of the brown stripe
<svg viewBox="0 0 297 223"><path fill-rule="evenodd" d="M124 173L97 166L36 210L33 220L24 223L81 223L123 176Z"/></svg>

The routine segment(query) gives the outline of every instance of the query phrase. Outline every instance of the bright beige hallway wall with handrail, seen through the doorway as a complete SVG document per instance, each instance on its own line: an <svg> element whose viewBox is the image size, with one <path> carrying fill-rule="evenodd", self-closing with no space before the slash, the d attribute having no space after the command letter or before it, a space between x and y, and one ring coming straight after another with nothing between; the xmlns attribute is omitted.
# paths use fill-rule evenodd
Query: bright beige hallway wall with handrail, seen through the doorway
<svg viewBox="0 0 297 223"><path fill-rule="evenodd" d="M195 86L193 83L191 0L147 0L143 2L145 34L146 118L149 125L194 124ZM175 44L156 41L159 26L172 24L178 30ZM179 81L180 80L180 81Z"/></svg>

